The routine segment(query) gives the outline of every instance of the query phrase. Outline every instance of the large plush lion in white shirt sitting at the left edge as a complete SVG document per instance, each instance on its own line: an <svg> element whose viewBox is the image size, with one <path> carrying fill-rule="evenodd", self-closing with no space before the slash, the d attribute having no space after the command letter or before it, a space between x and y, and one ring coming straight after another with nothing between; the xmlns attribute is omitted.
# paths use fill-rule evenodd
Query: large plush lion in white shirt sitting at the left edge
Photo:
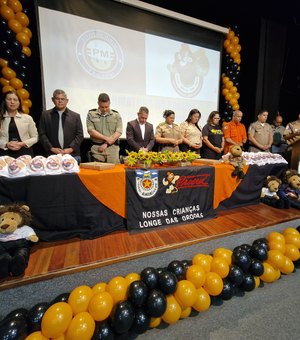
<svg viewBox="0 0 300 340"><path fill-rule="evenodd" d="M24 274L31 242L39 238L29 226L30 208L22 204L0 206L0 279Z"/></svg>

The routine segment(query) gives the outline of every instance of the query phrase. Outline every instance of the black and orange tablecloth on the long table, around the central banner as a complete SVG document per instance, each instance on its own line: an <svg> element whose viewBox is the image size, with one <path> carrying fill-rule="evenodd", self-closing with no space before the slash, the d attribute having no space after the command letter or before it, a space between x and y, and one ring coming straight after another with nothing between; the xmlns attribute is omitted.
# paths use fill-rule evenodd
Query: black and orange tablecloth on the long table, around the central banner
<svg viewBox="0 0 300 340"><path fill-rule="evenodd" d="M205 208L206 216L222 209L259 203L266 176L273 174L279 177L286 168L284 164L245 166L246 176L239 180L231 177L232 167L228 164L211 167L214 171L213 184L209 189L212 202L210 209ZM200 174L207 168L207 165L197 164L184 170L185 174L189 171ZM0 177L0 204L17 202L29 205L33 215L32 226L43 241L100 237L132 227L127 223L127 216L133 213L127 210L128 171L134 170L120 164L103 171L80 169L78 174ZM176 175L183 169L171 167L159 171L170 171ZM130 194L134 193L131 191ZM188 195L185 200L182 206L189 206ZM164 209L161 197L156 197L156 202Z"/></svg>

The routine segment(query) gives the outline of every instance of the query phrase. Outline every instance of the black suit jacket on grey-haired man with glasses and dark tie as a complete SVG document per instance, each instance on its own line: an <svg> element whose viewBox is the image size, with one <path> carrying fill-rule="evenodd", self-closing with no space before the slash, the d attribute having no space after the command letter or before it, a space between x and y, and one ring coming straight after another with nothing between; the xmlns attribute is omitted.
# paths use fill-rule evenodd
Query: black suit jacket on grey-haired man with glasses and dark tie
<svg viewBox="0 0 300 340"><path fill-rule="evenodd" d="M60 148L58 142L59 114L55 108L42 112L39 123L39 140L48 155L51 148ZM63 148L72 148L73 156L80 156L80 144L83 141L83 128L80 115L66 108L62 114L64 130Z"/></svg>

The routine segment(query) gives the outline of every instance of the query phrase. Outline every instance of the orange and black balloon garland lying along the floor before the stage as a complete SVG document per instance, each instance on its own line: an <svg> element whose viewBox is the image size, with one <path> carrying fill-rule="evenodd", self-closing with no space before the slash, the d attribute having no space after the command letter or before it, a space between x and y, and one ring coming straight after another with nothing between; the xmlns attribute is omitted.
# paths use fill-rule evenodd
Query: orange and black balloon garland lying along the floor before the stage
<svg viewBox="0 0 300 340"><path fill-rule="evenodd" d="M233 250L174 260L165 268L115 276L108 283L78 286L50 303L19 308L0 322L1 339L114 339L137 336L209 309L294 272L300 265L300 226L272 231Z"/></svg>

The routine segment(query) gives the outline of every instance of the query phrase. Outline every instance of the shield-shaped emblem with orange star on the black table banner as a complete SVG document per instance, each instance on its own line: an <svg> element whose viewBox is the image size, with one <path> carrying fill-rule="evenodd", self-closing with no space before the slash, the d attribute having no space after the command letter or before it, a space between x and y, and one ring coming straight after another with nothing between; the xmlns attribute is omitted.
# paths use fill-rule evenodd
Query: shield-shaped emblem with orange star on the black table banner
<svg viewBox="0 0 300 340"><path fill-rule="evenodd" d="M140 197L153 197L158 190L157 170L136 170L136 191Z"/></svg>

